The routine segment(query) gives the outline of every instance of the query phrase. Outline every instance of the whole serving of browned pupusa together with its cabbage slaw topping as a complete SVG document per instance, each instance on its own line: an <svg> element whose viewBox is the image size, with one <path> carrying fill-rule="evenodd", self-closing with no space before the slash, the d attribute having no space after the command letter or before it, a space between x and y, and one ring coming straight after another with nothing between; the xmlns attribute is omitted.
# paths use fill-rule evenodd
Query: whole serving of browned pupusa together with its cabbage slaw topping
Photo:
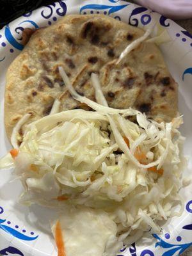
<svg viewBox="0 0 192 256"><path fill-rule="evenodd" d="M58 209L60 256L115 256L183 211L177 83L152 29L69 15L8 69L0 168L15 168L22 204Z"/></svg>

